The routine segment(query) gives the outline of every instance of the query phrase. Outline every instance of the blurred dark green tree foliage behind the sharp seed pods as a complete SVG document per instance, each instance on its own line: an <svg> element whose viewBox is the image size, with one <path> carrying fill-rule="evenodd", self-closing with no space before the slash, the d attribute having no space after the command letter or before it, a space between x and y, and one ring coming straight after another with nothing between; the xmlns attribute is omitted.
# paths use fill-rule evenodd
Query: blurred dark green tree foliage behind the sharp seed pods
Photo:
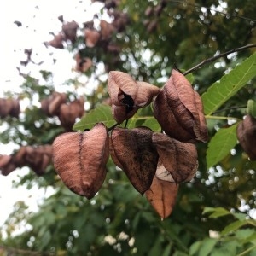
<svg viewBox="0 0 256 256"><path fill-rule="evenodd" d="M123 71L137 80L161 87L174 67L187 70L213 55L256 42L254 1L101 2L102 9L98 10L95 20L101 20L102 14L108 13L109 24L122 15L125 21L114 26L107 38L94 47L84 43L84 28L91 27L91 23L79 24L75 40L67 40L61 49L72 52L74 58L79 54L92 61L87 70L74 70L78 73L76 79L66 84L74 88L67 92L70 101L84 96L86 112L108 99L106 87L110 70ZM114 49L110 50L109 45ZM202 94L254 51L245 49L195 70L195 90ZM65 131L59 119L47 116L38 103L34 103L35 99L40 102L55 91L51 71L41 73L43 84L24 75L24 83L20 84L22 92L14 95L10 91L6 95L18 96L20 100L26 98L29 104L19 118L8 116L0 120L0 124L6 126L1 143L14 142L20 147L51 144ZM81 82L81 77L89 78L88 82ZM79 93L80 87L88 88L88 93ZM255 80L249 81L224 103L218 115L242 119L248 99L255 99L255 90ZM151 108L143 111L143 115L152 114ZM229 123L226 119L209 119L207 125L211 138L218 128ZM102 189L90 201L69 191L51 165L41 176L29 172L15 185L27 189L35 184L45 189L50 186L54 193L45 198L38 212L28 212L26 201L16 203L3 226L5 236L1 237L0 253L256 255L255 222L250 217L256 202L256 162L248 160L240 144L236 144L218 166L207 169L207 144L199 143L197 148L200 165L196 176L192 182L180 185L174 211L164 221L131 186L125 174L116 169L112 160L108 161L108 175ZM209 217L203 212L205 207L212 207L216 216ZM223 214L223 211L241 215ZM230 224L230 232L223 233ZM27 225L27 229L13 236L20 225Z"/></svg>

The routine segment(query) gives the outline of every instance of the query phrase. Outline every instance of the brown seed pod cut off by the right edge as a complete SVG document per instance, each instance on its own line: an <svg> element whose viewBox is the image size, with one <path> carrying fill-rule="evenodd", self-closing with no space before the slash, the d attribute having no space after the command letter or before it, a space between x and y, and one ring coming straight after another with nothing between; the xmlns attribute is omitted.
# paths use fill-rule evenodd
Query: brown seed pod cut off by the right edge
<svg viewBox="0 0 256 256"><path fill-rule="evenodd" d="M250 160L256 160L256 119L247 114L236 129L236 135L243 150Z"/></svg>

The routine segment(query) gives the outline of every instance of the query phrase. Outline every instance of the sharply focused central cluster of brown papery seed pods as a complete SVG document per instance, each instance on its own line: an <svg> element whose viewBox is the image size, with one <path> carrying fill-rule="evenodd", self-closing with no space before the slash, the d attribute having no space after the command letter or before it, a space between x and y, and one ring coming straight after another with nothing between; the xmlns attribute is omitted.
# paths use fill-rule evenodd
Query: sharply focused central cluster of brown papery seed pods
<svg viewBox="0 0 256 256"><path fill-rule="evenodd" d="M195 143L208 139L201 96L177 70L162 88L111 71L108 93L118 124L152 103L163 132L144 126L108 131L100 122L90 131L64 133L53 143L55 170L69 189L90 199L102 187L110 155L160 217L167 218L179 183L189 182L197 171Z"/></svg>

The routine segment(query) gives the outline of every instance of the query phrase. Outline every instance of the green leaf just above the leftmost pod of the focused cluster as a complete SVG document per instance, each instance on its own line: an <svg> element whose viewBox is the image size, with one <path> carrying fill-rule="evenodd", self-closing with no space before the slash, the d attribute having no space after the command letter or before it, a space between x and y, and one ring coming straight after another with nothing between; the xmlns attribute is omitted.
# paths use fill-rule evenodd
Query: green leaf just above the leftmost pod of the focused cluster
<svg viewBox="0 0 256 256"><path fill-rule="evenodd" d="M89 113L86 113L78 123L73 125L73 130L84 131L85 129L91 129L99 122L102 122L108 128L116 123L113 119L111 108L108 105L99 105Z"/></svg>

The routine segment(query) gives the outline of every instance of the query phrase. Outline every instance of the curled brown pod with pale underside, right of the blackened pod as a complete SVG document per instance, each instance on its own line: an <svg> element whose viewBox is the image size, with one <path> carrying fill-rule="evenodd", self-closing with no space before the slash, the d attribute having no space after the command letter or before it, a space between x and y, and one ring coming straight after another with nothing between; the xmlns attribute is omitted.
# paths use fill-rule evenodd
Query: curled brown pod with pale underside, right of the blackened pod
<svg viewBox="0 0 256 256"><path fill-rule="evenodd" d="M156 171L158 178L169 182L172 182L173 178L175 183L182 183L190 181L195 176L198 167L195 144L182 143L157 132L153 133L152 141L165 167L158 166L160 167L160 170ZM166 170L171 173L172 178L166 175Z"/></svg>

